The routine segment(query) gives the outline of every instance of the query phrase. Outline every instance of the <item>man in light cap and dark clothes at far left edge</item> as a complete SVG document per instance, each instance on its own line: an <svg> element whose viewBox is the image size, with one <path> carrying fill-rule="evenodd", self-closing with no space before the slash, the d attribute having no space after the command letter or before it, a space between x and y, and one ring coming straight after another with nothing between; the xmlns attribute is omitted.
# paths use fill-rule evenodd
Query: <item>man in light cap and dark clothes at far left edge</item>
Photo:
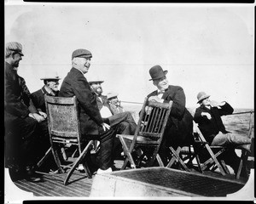
<svg viewBox="0 0 256 204"><path fill-rule="evenodd" d="M41 181L35 173L41 146L49 148L47 121L33 105L24 78L17 74L24 54L20 42L8 42L4 69L4 126L6 166L17 176L32 182ZM11 173L10 172L10 173Z"/></svg>

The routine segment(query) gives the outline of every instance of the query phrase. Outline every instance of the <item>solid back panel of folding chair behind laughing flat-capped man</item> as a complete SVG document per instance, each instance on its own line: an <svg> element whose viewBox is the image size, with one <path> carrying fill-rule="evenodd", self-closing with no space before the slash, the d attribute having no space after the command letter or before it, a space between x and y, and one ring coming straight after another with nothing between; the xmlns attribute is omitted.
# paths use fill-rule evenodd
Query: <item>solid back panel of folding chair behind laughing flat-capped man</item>
<svg viewBox="0 0 256 204"><path fill-rule="evenodd" d="M44 96L49 134L56 141L79 140L79 118L76 97Z"/></svg>

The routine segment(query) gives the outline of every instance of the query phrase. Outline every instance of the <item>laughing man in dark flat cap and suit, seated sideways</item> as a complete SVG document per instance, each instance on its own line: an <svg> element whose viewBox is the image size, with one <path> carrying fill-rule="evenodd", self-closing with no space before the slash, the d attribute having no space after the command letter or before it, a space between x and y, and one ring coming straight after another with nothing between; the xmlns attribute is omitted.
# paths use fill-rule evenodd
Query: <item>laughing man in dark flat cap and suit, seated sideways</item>
<svg viewBox="0 0 256 204"><path fill-rule="evenodd" d="M80 48L73 51L72 69L64 78L59 96L78 99L79 122L82 137L100 141L100 150L97 152L99 169L97 173L112 172L113 165L113 129L102 119L96 103L96 94L90 89L84 77L90 68L92 54L89 50Z"/></svg>

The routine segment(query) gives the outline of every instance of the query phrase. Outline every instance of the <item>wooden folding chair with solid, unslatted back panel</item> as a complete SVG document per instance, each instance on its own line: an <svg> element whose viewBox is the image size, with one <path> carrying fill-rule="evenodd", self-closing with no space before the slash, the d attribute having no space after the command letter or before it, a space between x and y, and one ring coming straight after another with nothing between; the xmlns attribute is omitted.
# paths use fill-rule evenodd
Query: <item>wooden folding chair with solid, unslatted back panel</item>
<svg viewBox="0 0 256 204"><path fill-rule="evenodd" d="M82 163L88 178L91 178L90 169L84 157L90 153L94 140L86 140L81 137L76 97L44 95L44 99L51 146L44 157L38 161L38 167L52 154L61 173L65 173L69 169L64 180L65 185L80 163ZM67 150L70 149L73 150L71 151L73 153L68 152L69 154L67 154ZM62 156L60 156L61 153Z"/></svg>

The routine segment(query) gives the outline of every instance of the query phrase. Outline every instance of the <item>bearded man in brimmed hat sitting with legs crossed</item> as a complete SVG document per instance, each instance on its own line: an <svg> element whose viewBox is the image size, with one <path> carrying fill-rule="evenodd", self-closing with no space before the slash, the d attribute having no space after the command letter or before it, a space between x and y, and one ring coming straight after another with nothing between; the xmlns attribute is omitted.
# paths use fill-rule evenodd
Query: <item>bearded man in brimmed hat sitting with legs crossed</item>
<svg viewBox="0 0 256 204"><path fill-rule="evenodd" d="M111 111L107 96L102 95L102 82L101 80L89 80L90 88L96 93L96 102L103 118L108 119L108 124L113 128L115 134L129 134L135 133L137 124L131 116L131 112L124 111L114 114ZM119 139L115 137L113 147L113 157L120 156L122 144Z"/></svg>

